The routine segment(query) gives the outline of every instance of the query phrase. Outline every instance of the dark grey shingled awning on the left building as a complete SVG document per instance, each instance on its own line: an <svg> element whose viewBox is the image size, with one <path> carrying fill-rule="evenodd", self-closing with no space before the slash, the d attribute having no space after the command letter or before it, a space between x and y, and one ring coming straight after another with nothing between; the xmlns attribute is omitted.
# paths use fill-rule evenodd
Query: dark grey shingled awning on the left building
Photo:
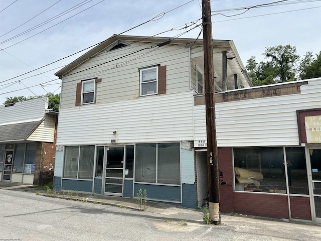
<svg viewBox="0 0 321 241"><path fill-rule="evenodd" d="M25 122L0 126L0 142L5 141L24 141L39 125L43 122Z"/></svg>

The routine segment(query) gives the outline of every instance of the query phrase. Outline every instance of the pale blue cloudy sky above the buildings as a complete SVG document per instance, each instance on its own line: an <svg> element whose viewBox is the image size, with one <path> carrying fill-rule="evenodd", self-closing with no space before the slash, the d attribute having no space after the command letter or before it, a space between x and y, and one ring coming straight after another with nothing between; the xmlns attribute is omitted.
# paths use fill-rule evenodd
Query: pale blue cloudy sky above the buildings
<svg viewBox="0 0 321 241"><path fill-rule="evenodd" d="M113 34L197 38L201 2L0 0L0 104L60 93L54 73ZM233 40L244 66L266 61L266 47L321 51L320 0L212 0L211 10L213 39Z"/></svg>

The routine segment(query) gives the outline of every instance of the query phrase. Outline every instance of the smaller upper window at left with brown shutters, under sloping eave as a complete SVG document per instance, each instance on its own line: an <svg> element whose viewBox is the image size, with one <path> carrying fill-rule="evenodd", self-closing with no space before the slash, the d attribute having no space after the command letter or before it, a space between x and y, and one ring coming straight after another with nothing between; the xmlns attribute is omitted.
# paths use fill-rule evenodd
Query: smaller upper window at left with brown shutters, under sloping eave
<svg viewBox="0 0 321 241"><path fill-rule="evenodd" d="M95 103L98 82L101 82L101 79L89 79L77 83L76 105Z"/></svg>

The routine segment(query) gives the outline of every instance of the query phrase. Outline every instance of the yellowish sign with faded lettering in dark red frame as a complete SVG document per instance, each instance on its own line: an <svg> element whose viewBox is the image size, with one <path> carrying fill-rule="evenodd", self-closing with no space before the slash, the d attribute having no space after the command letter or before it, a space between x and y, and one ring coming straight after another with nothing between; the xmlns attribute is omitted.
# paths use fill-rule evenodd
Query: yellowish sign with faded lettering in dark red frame
<svg viewBox="0 0 321 241"><path fill-rule="evenodd" d="M321 143L321 115L305 116L306 143Z"/></svg>

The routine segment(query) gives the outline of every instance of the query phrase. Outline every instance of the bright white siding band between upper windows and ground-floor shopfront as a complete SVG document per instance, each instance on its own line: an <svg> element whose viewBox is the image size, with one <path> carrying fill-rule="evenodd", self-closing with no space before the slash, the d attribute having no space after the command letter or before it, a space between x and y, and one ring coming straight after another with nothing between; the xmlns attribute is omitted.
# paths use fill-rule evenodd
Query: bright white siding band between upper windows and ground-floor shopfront
<svg viewBox="0 0 321 241"><path fill-rule="evenodd" d="M193 104L188 91L60 109L57 145L194 140Z"/></svg>

